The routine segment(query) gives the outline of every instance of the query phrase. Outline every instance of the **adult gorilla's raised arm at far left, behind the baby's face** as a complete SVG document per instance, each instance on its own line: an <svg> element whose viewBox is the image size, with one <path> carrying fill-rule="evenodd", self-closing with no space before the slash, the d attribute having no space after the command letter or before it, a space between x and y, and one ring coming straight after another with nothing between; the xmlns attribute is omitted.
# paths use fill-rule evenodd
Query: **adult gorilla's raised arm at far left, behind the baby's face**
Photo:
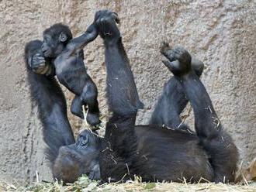
<svg viewBox="0 0 256 192"><path fill-rule="evenodd" d="M71 125L67 120L67 105L61 87L54 77L33 73L28 60L40 52L42 42L34 40L26 44L25 62L31 98L39 109L43 123L43 139L47 143L47 157L53 166L61 146L74 143Z"/></svg>

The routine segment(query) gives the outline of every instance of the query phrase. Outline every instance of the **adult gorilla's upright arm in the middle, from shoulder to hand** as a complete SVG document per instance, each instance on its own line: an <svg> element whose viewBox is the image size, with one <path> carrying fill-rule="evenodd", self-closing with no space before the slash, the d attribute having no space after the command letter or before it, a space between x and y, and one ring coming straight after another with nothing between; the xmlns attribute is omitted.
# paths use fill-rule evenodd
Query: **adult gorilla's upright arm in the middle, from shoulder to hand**
<svg viewBox="0 0 256 192"><path fill-rule="evenodd" d="M105 181L125 180L133 177L130 175L130 166L137 156L134 125L137 110L142 108L143 104L140 102L130 63L116 26L116 13L100 11L96 13L95 18L99 35L105 44L106 91L109 110L112 112L102 142L101 176ZM109 179L111 176L116 177Z"/></svg>

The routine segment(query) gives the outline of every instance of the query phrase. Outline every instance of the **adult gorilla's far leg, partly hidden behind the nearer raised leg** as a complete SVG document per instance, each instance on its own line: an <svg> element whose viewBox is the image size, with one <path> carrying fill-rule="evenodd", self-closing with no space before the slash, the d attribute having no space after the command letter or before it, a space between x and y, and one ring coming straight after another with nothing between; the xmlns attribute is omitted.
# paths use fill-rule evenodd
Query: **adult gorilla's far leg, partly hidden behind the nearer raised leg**
<svg viewBox="0 0 256 192"><path fill-rule="evenodd" d="M161 53L168 56L169 50L170 46L168 43L162 43ZM203 70L202 61L193 58L192 69L195 70L195 74L200 77ZM164 84L163 93L157 101L149 123L154 125L167 125L172 129L187 129L187 127L182 124L182 120L179 117L187 103L188 99L185 97L182 85L175 77L171 77L171 79Z"/></svg>

